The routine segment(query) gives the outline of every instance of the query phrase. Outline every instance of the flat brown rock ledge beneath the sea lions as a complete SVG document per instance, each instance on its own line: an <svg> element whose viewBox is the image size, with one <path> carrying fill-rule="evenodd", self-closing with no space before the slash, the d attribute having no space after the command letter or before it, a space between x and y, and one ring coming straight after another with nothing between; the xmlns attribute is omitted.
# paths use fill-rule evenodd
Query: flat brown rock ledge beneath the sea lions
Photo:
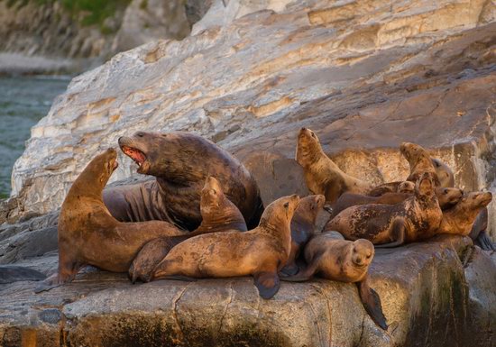
<svg viewBox="0 0 496 347"><path fill-rule="evenodd" d="M56 263L53 252L23 260L45 271ZM88 270L39 295L36 282L16 282L0 286L0 345L493 346L496 256L468 238L378 250L371 276L388 332L353 284L324 279L283 282L271 300L251 278L132 285Z"/></svg>

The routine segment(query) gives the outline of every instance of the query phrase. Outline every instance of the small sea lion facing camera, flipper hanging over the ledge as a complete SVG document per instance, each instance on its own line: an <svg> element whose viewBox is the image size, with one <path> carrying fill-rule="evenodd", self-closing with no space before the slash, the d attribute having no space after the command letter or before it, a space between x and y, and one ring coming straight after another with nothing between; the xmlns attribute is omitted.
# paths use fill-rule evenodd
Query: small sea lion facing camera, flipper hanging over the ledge
<svg viewBox="0 0 496 347"><path fill-rule="evenodd" d="M317 275L324 279L356 283L365 311L376 324L387 330L381 298L369 287L367 280L373 254L372 242L368 240L345 241L343 236L336 232L316 234L305 247L307 269L299 271L295 277L282 279L303 281Z"/></svg>

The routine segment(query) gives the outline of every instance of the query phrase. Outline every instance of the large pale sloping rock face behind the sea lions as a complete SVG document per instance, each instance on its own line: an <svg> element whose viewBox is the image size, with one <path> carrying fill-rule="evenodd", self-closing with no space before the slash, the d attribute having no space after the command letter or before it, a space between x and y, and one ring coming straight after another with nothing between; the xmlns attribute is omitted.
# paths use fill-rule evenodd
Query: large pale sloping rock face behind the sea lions
<svg viewBox="0 0 496 347"><path fill-rule="evenodd" d="M271 165L293 157L307 126L345 171L376 183L404 178L398 145L418 142L459 187L491 188L495 7L308 0L118 54L74 78L32 128L5 214L58 208L96 151L137 130L199 132ZM113 179L135 175L120 160Z"/></svg>

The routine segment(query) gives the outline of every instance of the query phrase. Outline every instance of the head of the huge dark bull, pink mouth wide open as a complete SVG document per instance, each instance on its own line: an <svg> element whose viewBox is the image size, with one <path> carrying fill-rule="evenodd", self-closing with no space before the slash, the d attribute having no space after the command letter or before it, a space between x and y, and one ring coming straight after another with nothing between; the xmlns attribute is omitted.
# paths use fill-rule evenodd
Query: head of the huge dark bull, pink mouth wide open
<svg viewBox="0 0 496 347"><path fill-rule="evenodd" d="M121 150L138 165L138 173L177 184L205 179L207 143L190 132L135 132L119 138Z"/></svg>

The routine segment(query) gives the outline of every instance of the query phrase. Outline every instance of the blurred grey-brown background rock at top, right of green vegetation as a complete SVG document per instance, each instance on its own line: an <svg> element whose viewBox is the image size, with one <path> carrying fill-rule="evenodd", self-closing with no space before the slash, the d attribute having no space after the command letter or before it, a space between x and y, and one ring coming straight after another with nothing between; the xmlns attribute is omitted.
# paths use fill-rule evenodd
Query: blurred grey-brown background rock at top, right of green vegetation
<svg viewBox="0 0 496 347"><path fill-rule="evenodd" d="M189 31L181 1L133 0L125 9L112 49L130 50L159 39L182 40Z"/></svg>

